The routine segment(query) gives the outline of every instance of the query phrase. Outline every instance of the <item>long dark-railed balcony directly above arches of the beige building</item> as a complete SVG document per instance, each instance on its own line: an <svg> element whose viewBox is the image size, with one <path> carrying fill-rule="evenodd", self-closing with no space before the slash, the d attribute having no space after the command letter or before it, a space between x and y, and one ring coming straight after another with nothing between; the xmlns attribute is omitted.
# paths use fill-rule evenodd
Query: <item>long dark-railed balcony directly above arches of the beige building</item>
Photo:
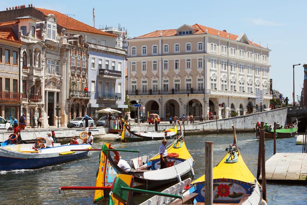
<svg viewBox="0 0 307 205"><path fill-rule="evenodd" d="M174 94L204 94L204 89L170 89L170 90L128 90L127 95L174 95Z"/></svg>

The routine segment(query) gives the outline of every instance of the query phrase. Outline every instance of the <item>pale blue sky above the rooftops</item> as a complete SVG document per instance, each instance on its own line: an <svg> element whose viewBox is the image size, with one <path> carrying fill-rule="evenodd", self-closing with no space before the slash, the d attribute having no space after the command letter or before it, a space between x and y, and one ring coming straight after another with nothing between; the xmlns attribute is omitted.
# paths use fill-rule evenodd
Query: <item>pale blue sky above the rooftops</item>
<svg viewBox="0 0 307 205"><path fill-rule="evenodd" d="M249 40L267 44L270 52L270 74L273 89L292 99L293 64L295 67L295 96L301 95L304 80L302 65L307 63L306 11L307 1L30 1L33 6L57 10L95 27L121 24L131 37L155 30L177 29L183 24L195 23L231 34L245 33ZM15 0L0 2L0 10L25 4ZM27 6L27 4L26 4ZM297 97L295 99L297 101ZM291 103L292 100L289 102Z"/></svg>

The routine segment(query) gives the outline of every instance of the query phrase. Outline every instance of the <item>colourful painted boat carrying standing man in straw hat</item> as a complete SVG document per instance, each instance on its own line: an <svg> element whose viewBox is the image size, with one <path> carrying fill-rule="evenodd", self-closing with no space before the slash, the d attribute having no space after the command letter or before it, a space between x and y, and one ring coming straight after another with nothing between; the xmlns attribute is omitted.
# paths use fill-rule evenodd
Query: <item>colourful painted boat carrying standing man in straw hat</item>
<svg viewBox="0 0 307 205"><path fill-rule="evenodd" d="M134 176L133 187L138 189L152 190L165 184L181 180L182 177L191 173L194 175L194 160L185 146L182 137L173 142L167 152L172 153L168 156L167 168L160 168L160 155L157 154L149 159L149 156L142 156L131 159L131 171L123 171L113 160L113 152L107 149L114 149L111 144L105 143L99 160L99 170L96 178L96 187L112 186L117 174L129 174ZM94 202L107 196L102 190L96 190Z"/></svg>

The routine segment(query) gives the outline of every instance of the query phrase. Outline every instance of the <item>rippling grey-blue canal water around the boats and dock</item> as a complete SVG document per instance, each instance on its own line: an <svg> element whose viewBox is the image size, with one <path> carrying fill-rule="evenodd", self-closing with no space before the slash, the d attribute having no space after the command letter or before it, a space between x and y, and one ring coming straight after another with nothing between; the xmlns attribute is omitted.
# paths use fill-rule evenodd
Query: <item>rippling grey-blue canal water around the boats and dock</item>
<svg viewBox="0 0 307 205"><path fill-rule="evenodd" d="M238 145L243 160L256 176L258 140L251 133L238 133ZM205 141L213 141L213 164L216 165L225 155L225 148L232 144L232 134L201 134L185 138L186 146L196 161L195 179L204 174ZM301 152L301 146L295 145L296 137L277 139L277 152ZM94 148L101 148L105 143L94 140ZM266 160L273 155L273 140L266 140ZM153 156L157 153L160 141L121 143L113 142L115 148L138 149L140 156ZM169 142L168 142L169 144ZM137 157L137 153L121 153L122 159ZM99 151L92 151L86 158L53 165L35 170L2 171L0 172L0 204L91 204L93 191L61 191L60 186L95 186L95 173L98 169ZM169 187L166 186L166 187ZM161 190L166 187L162 187ZM160 191L161 191L160 190ZM151 195L135 196L136 203L141 203ZM267 184L268 204L307 204L307 186ZM107 202L98 204L106 205Z"/></svg>

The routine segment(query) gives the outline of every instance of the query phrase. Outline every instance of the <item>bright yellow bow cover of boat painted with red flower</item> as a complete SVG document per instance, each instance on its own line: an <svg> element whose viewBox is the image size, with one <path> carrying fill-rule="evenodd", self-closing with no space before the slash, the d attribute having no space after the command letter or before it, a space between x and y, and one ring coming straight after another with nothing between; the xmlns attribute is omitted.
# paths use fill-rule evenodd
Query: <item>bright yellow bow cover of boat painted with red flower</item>
<svg viewBox="0 0 307 205"><path fill-rule="evenodd" d="M234 179L247 183L254 182L255 176L247 168L239 151L237 151L237 154L238 154L238 162L229 163L229 164L225 163L228 153L225 155L225 157L220 161L220 163L213 168L213 179ZM205 181L205 175L196 179L192 183L198 183L204 181Z"/></svg>

